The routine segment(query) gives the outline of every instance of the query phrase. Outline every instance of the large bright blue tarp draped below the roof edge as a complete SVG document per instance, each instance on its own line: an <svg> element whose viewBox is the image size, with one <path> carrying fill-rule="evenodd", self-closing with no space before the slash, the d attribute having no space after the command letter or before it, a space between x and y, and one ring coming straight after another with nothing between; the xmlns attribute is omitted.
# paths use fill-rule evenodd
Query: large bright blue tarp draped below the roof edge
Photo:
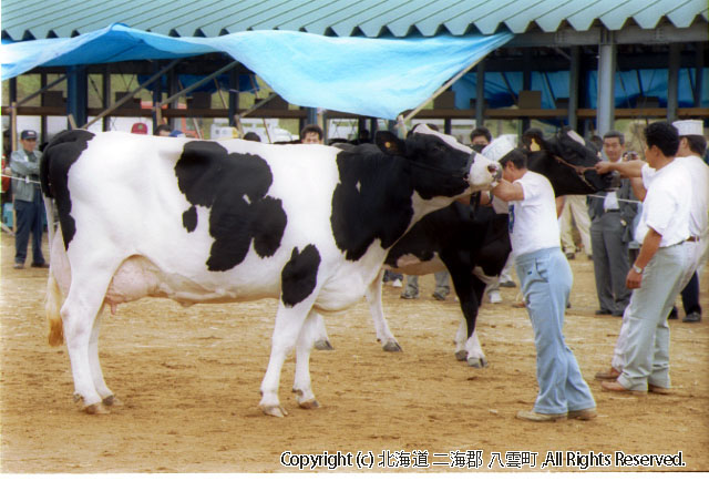
<svg viewBox="0 0 709 481"><path fill-rule="evenodd" d="M70 39L0 47L2 80L35 66L174 59L225 52L288 102L393 120L513 38L332 38L259 30L215 38L166 37L113 24ZM210 73L210 72L205 72Z"/></svg>

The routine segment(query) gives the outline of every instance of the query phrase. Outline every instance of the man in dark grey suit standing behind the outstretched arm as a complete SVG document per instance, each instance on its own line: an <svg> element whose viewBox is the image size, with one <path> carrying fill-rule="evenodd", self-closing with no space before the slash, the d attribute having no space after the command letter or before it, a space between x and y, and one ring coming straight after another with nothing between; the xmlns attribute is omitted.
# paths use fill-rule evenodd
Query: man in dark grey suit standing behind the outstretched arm
<svg viewBox="0 0 709 481"><path fill-rule="evenodd" d="M609 162L623 162L624 135L617 131L606 133L603 150ZM633 239L633 219L637 209L637 198L627 178L617 191L589 197L590 243L599 305L596 315L621 317L630 301L625 278L630 268L628 243Z"/></svg>

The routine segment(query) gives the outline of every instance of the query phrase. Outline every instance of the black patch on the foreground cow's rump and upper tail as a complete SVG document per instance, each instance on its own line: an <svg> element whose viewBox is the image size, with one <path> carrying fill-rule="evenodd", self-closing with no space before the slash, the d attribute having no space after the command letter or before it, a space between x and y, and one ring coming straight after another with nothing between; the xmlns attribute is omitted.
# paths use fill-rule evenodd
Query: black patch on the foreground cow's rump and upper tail
<svg viewBox="0 0 709 481"><path fill-rule="evenodd" d="M59 223L64 238L64 248L76 234L76 223L71 216L71 196L69 193L69 170L89 146L95 135L89 131L60 132L47 145L40 160L40 182L42 192L56 201Z"/></svg>

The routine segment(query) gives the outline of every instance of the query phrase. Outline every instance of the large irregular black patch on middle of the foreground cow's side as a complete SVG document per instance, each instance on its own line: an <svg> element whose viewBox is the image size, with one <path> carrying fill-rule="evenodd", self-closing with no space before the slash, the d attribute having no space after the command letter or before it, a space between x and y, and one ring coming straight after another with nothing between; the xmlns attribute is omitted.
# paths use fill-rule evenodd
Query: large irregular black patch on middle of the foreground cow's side
<svg viewBox="0 0 709 481"><path fill-rule="evenodd" d="M183 213L187 232L197 228L197 205L210 209L214 243L206 263L209 270L228 270L240 264L251 242L260 257L276 253L287 218L281 201L266 195L274 178L264 158L228 153L216 142L188 142L175 175L179 191L192 204Z"/></svg>

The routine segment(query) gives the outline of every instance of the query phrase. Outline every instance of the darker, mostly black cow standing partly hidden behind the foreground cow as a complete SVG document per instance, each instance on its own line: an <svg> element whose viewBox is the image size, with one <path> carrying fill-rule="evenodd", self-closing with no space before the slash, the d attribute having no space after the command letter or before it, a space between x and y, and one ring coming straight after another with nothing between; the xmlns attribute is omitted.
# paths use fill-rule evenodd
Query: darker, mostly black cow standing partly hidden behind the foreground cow
<svg viewBox="0 0 709 481"><path fill-rule="evenodd" d="M612 186L613 176L599 176L593 168L599 160L595 147L568 127L551 139L533 133L528 140L541 149L528 153L528 168L545 175L557 196L592 194ZM464 316L455 335L455 357L484 367L487 361L475 331L486 286L481 277L500 275L511 248L506 214L453 203L419 221L394 244L384 266L409 275L448 268ZM377 339L384 350L400 350L384 317L381 289L370 293L368 299Z"/></svg>

